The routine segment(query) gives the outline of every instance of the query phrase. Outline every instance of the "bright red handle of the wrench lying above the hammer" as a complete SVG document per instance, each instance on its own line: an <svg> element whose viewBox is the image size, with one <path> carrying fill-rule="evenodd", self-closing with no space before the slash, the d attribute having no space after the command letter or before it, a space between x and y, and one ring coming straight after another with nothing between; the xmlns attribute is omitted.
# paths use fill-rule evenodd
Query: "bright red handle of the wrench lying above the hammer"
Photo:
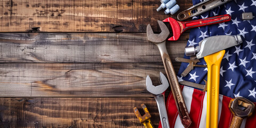
<svg viewBox="0 0 256 128"><path fill-rule="evenodd" d="M188 22L181 22L184 27L182 32L190 28L213 25L215 23L227 22L230 20L231 20L231 16L229 14L225 14L225 15L219 15L217 17L211 17L211 18L188 21Z"/></svg>

